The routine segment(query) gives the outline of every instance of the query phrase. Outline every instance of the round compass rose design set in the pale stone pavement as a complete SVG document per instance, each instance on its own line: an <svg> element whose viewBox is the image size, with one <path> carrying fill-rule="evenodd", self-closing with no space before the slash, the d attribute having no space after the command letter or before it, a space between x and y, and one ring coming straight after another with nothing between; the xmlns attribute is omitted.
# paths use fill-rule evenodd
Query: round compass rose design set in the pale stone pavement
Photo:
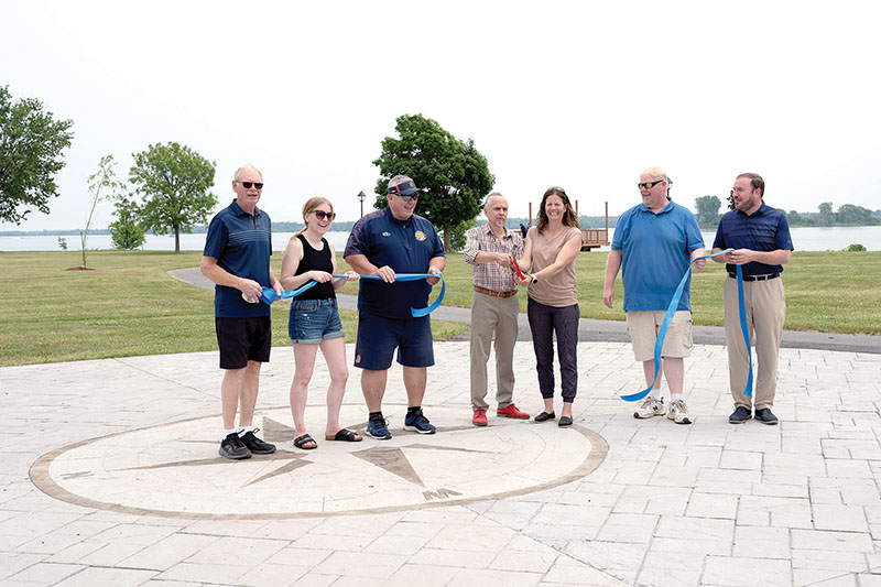
<svg viewBox="0 0 881 587"><path fill-rule="evenodd" d="M387 406L387 415L404 406ZM273 455L230 461L217 454L217 416L112 434L39 458L31 478L47 494L78 506L142 515L195 519L284 519L379 513L539 491L585 477L608 445L575 425L499 418L477 428L460 407L426 407L437 434L402 430L391 441L323 441L325 407L309 406L315 450L293 447L289 409L258 412ZM341 422L361 432L363 407L342 407ZM316 434L318 432L319 434Z"/></svg>

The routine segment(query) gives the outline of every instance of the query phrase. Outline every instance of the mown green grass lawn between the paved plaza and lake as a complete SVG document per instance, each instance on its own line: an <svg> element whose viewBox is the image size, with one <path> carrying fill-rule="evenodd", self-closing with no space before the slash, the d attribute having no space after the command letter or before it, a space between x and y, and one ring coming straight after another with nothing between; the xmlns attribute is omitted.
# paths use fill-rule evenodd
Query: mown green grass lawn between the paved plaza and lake
<svg viewBox="0 0 881 587"><path fill-rule="evenodd" d="M581 316L623 319L620 276L616 307L602 304L606 252L578 256L578 298ZM198 251L93 251L94 271L78 267L80 253L0 252L4 276L0 294L0 366L189 352L217 348L214 334L214 292L172 279L167 271L196 267ZM273 257L279 271L281 256ZM340 271L347 265L340 261ZM827 333L881 335L881 252L794 252L784 272L786 328ZM452 253L444 272L445 305L469 307L471 268ZM725 268L709 262L692 280L695 324L721 326ZM357 293L348 284L345 293ZM435 294L433 294L434 297ZM520 294L525 312L526 296ZM287 340L287 307L273 304L275 345ZM355 313L341 311L347 341L354 340ZM449 338L466 324L432 320L435 338Z"/></svg>

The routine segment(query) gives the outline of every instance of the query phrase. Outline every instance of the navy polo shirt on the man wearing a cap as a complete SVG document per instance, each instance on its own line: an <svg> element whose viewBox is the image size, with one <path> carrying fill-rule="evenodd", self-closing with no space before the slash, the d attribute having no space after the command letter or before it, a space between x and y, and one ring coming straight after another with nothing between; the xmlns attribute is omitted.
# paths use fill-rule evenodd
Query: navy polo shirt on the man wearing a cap
<svg viewBox="0 0 881 587"><path fill-rule="evenodd" d="M415 214L399 220L388 207L355 224L344 257L350 254L363 254L374 265L389 265L395 273L425 273L432 259L445 257L444 243L432 222ZM431 291L425 280L360 280L358 309L387 318L412 318L410 308L427 306Z"/></svg>

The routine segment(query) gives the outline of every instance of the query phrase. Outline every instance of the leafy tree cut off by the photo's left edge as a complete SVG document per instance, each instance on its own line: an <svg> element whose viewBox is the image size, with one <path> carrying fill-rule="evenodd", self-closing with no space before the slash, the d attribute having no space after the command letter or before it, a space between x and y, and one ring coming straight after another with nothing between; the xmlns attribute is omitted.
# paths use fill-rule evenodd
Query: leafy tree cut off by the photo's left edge
<svg viewBox="0 0 881 587"><path fill-rule="evenodd" d="M64 167L62 150L70 146L73 120L53 119L34 98L12 102L0 87L0 221L21 224L35 207L48 214L57 197L55 174Z"/></svg>

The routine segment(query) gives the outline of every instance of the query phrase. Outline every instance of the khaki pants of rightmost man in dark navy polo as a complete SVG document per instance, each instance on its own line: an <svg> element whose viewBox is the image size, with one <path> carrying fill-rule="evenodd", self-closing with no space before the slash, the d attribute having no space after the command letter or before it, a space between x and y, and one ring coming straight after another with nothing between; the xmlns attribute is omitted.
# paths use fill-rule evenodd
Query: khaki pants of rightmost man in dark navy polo
<svg viewBox="0 0 881 587"><path fill-rule="evenodd" d="M786 318L786 296L783 280L744 281L743 305L747 311L747 327L750 346L755 349L755 378L752 399L755 409L774 405L777 389L777 360L783 322ZM743 394L749 378L749 356L740 328L740 312L737 303L737 280L725 280L725 338L728 346L728 380L735 407L751 407L750 398Z"/></svg>

